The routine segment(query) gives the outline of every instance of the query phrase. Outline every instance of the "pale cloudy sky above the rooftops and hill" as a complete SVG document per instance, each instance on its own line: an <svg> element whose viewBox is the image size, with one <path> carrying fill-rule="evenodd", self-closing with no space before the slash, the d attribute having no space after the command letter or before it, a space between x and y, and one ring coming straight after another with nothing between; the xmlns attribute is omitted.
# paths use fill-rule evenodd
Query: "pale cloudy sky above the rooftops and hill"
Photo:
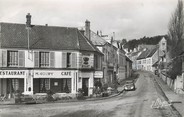
<svg viewBox="0 0 184 117"><path fill-rule="evenodd" d="M165 35L178 0L0 0L0 22L83 28L116 40Z"/></svg>

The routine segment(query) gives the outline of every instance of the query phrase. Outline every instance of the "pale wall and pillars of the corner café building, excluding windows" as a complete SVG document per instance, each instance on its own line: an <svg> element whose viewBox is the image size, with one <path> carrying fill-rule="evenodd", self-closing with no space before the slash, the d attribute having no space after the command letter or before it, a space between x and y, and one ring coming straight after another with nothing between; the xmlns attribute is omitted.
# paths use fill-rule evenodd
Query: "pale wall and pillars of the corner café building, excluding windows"
<svg viewBox="0 0 184 117"><path fill-rule="evenodd" d="M98 54L94 54L92 52L78 52L78 51L52 51L52 50L21 50L21 49L0 49L0 58L2 58L0 60L0 67L4 67L4 71L1 70L1 72L6 72L7 70L12 70L12 72L17 71L16 67L7 67L7 50L13 50L13 51L18 51L18 63L19 65L16 67L19 67L20 70L24 70L25 71L25 76L23 76L22 78L24 79L23 82L21 82L21 90L24 91L24 93L28 94L28 93L33 93L34 88L38 89L39 86L36 86L34 82L35 79L35 72L36 70L42 70L40 71L43 73L49 73L52 72L51 74L55 74L56 72L62 72L64 70L77 70L71 77L71 85L72 85L72 90L71 93L76 93L77 92L77 88L80 88L80 82L77 83L77 81L79 81L78 79L78 72L80 70L87 70L88 72L86 72L85 74L88 74L89 77L89 94L92 93L92 88L93 87L93 78L94 78L94 73L95 70L97 71L102 71L102 67L101 67L101 55ZM49 66L48 67L39 67L39 53L38 52L49 52ZM69 52L71 53L71 67L68 68L66 66L66 53ZM21 53L21 55L19 55ZM96 56L96 57L95 57ZM84 58L87 60L84 60ZM64 60L65 59L65 60ZM95 64L96 62L98 62L98 64ZM5 64L6 63L6 64ZM20 64L21 63L21 64ZM27 70L27 68L29 68L30 70ZM62 70L61 70L62 68ZM26 69L26 70L25 70ZM73 73L73 72L72 72ZM82 75L83 73L81 73ZM82 75L84 76L84 75ZM3 76L4 77L4 76ZM2 77L2 78L3 78ZM0 87L0 91L1 93L4 93L4 91L6 91L6 87L4 86L4 83L6 80L0 79L0 83L3 85L1 85ZM10 78L17 78L17 76L12 76ZM37 77L37 78L41 78ZM45 75L45 77L42 78L52 78L48 75ZM62 77L61 77L62 78ZM102 77L100 77L102 78ZM24 83L22 85L22 83ZM51 83L51 82L50 82ZM6 84L6 83L5 83ZM78 84L79 86L76 86L76 84ZM33 87L34 85L34 87ZM23 86L23 87L22 87ZM30 90L31 88L31 90ZM53 88L52 88L53 89Z"/></svg>

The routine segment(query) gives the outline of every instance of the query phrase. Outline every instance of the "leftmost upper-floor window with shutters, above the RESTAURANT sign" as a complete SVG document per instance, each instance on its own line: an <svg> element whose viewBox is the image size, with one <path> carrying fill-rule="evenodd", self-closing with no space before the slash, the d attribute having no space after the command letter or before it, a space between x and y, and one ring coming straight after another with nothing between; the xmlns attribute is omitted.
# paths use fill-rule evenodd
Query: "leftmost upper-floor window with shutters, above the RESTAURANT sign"
<svg viewBox="0 0 184 117"><path fill-rule="evenodd" d="M18 51L8 51L8 66L18 66Z"/></svg>

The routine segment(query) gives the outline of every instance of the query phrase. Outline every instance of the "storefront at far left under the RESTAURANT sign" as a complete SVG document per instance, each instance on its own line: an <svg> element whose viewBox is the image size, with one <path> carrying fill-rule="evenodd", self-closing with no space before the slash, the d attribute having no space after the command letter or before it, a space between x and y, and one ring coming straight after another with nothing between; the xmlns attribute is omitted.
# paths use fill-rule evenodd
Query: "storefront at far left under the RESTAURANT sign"
<svg viewBox="0 0 184 117"><path fill-rule="evenodd" d="M27 70L0 70L0 94L11 98L17 91L23 93L26 76Z"/></svg>

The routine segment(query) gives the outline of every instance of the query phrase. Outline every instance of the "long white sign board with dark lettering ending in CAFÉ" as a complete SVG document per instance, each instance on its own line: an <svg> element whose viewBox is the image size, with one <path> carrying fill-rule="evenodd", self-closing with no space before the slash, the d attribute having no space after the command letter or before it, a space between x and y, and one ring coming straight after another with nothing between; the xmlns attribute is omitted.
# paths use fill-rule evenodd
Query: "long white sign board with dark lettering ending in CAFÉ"
<svg viewBox="0 0 184 117"><path fill-rule="evenodd" d="M34 78L72 78L73 71L34 70Z"/></svg>

